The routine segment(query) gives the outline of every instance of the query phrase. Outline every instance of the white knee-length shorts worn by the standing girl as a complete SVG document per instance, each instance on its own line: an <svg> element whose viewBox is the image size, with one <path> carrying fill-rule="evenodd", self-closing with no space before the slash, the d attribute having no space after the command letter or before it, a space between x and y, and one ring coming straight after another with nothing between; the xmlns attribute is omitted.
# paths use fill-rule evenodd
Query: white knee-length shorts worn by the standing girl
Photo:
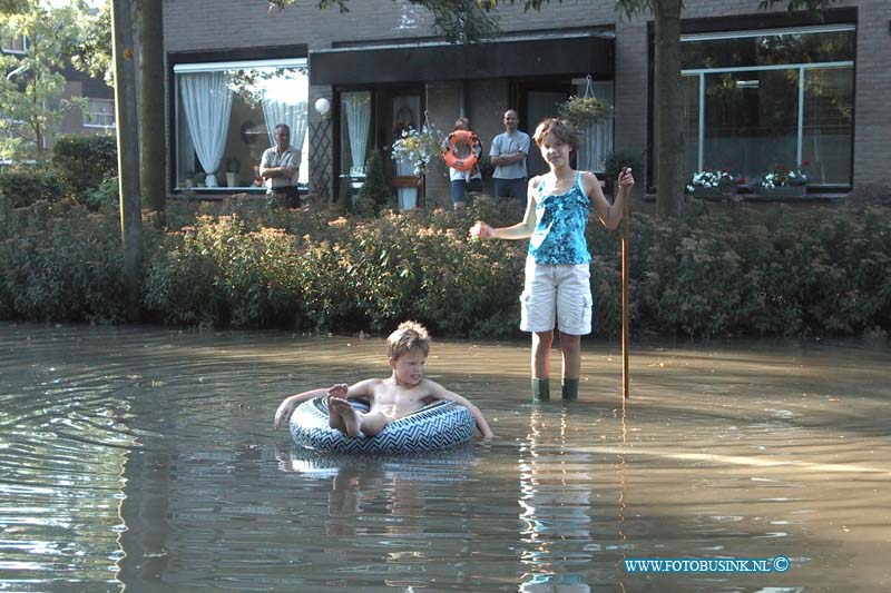
<svg viewBox="0 0 891 593"><path fill-rule="evenodd" d="M520 295L523 332L580 336L591 333L591 271L589 264L551 266L526 258L526 286Z"/></svg>

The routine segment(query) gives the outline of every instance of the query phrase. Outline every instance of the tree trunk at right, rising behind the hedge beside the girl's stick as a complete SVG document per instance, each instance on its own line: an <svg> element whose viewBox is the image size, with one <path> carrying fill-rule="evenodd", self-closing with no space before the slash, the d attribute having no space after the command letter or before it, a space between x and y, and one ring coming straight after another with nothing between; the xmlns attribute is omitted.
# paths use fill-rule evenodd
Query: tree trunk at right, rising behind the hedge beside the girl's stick
<svg viewBox="0 0 891 593"><path fill-rule="evenodd" d="M656 33L655 111L656 210L659 216L681 216L684 188L681 164L684 128L681 77L682 0L656 0L653 6Z"/></svg>

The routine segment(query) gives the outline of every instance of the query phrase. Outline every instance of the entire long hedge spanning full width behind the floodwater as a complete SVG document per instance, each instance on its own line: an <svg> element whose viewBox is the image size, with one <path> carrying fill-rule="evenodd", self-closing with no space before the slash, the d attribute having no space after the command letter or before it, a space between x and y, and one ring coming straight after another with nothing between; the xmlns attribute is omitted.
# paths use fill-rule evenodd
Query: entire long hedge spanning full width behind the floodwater
<svg viewBox="0 0 891 593"><path fill-rule="evenodd" d="M885 335L888 206L693 205L662 220L635 205L630 319L636 336ZM147 320L383 334L405 318L437 335L520 335L526 241L470 241L476 205L388 214L266 211L251 201L172 205L145 225ZM0 317L124 319L116 213L40 202L0 218ZM620 329L617 231L589 226L595 335Z"/></svg>

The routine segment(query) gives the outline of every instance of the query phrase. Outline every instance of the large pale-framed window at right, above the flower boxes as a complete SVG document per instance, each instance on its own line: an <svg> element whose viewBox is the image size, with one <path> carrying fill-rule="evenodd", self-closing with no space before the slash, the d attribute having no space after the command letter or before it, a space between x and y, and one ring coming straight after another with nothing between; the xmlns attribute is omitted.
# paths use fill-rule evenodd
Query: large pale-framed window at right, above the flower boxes
<svg viewBox="0 0 891 593"><path fill-rule="evenodd" d="M757 178L800 167L810 186L850 187L849 24L682 38L686 174Z"/></svg>

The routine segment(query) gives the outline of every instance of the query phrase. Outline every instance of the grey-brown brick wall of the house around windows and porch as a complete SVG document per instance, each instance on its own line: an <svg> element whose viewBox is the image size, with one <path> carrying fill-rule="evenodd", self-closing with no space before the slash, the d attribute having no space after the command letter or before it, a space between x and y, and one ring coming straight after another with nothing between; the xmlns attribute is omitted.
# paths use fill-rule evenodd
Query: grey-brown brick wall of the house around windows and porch
<svg viewBox="0 0 891 593"><path fill-rule="evenodd" d="M645 151L648 137L649 14L628 19L615 12L614 0L564 0L551 2L540 12L523 12L521 3L502 6L502 30L552 32L555 29L614 26L616 31L616 119L617 150ZM758 0L688 0L685 19L770 14L758 10ZM310 51L337 43L399 40L431 34L429 14L408 0L354 0L351 12L319 10L301 1L284 11L266 11L260 1L166 0L165 45L168 52L243 49L251 47L306 45ZM888 0L845 0L833 7L858 7L858 63L854 141L854 182L887 182L887 160L891 154L891 119L884 102L891 96L891 2ZM777 4L772 12L783 12ZM310 105L330 89L312 89ZM506 80L473 81L469 86L469 109L474 131L488 147L501 131L501 115L508 106ZM460 111L460 90L454 83L430 82L428 106L440 129L451 129ZM310 109L311 126L317 115ZM312 160L312 158L311 158ZM442 171L429 179L431 192L446 190ZM643 174L644 171L642 171ZM448 196L448 194L444 194Z"/></svg>

